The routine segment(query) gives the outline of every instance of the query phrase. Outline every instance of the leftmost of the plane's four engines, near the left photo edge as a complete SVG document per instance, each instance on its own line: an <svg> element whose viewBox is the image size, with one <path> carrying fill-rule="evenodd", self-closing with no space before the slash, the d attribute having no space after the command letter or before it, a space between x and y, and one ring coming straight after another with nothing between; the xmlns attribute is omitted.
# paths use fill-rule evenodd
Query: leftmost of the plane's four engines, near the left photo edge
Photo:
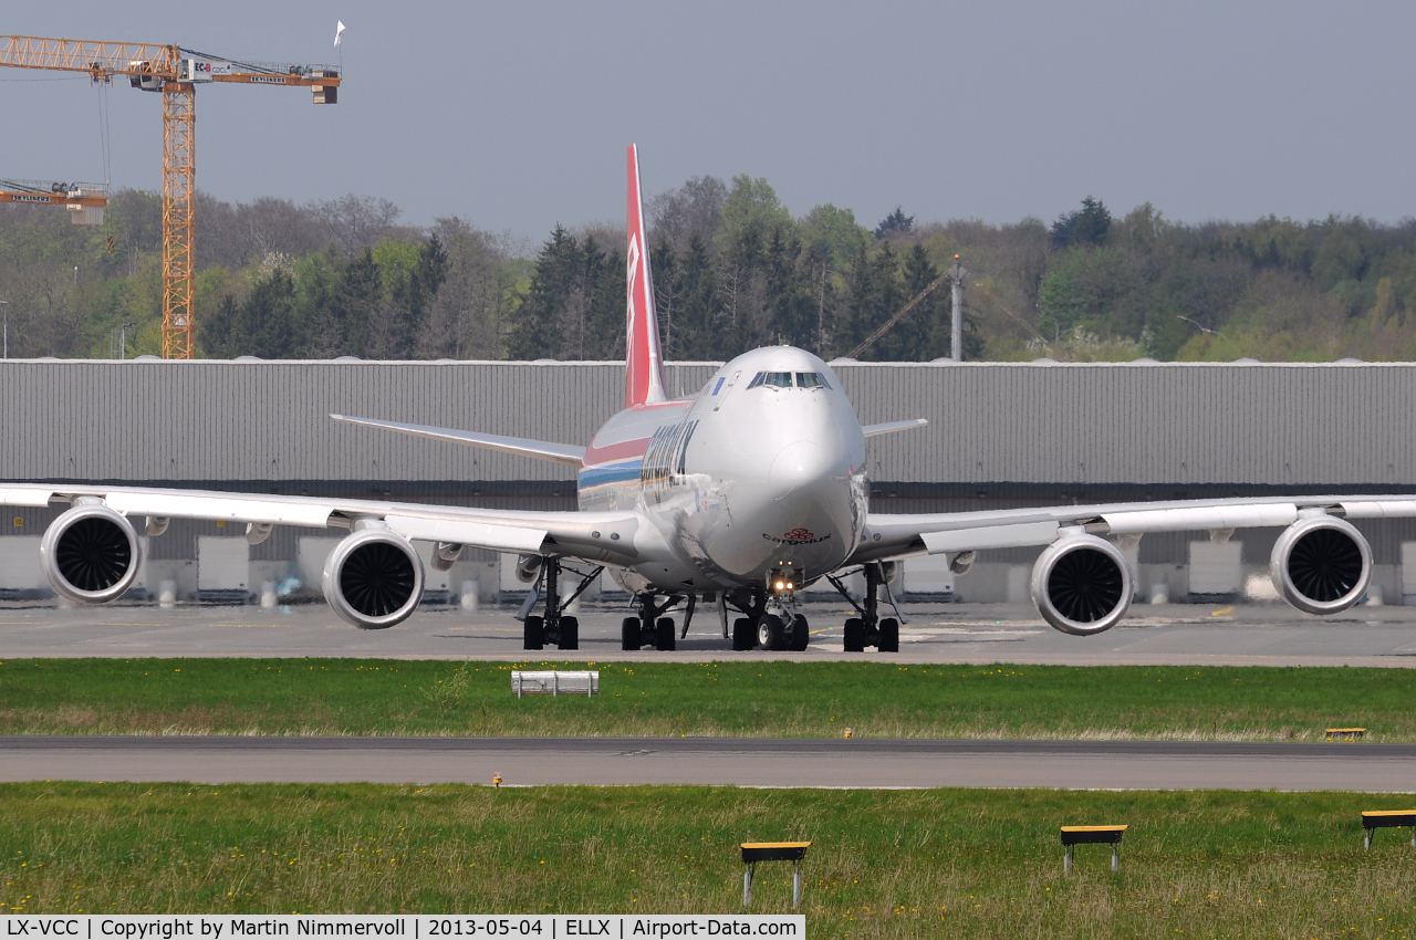
<svg viewBox="0 0 1416 940"><path fill-rule="evenodd" d="M40 542L40 566L50 586L81 604L122 597L142 563L133 524L102 500L65 511Z"/></svg>

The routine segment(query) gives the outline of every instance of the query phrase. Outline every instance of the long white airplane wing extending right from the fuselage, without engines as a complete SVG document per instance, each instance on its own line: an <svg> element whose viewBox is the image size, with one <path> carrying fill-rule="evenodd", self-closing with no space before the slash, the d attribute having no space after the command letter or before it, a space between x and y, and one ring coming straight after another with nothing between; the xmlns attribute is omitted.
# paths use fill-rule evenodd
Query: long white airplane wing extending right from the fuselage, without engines
<svg viewBox="0 0 1416 940"><path fill-rule="evenodd" d="M1065 527L1080 527L1092 535L1283 527L1296 522L1306 510L1347 520L1406 518L1416 517L1416 495L1289 495L909 515L871 512L865 538L847 563L1042 546L1052 544Z"/></svg>

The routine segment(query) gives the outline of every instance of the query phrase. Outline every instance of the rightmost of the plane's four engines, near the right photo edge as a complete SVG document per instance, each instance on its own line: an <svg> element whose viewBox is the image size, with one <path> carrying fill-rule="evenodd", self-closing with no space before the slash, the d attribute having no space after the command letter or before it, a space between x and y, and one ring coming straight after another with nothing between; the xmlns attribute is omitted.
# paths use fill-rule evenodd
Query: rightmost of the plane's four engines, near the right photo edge
<svg viewBox="0 0 1416 940"><path fill-rule="evenodd" d="M1372 582L1372 548L1351 522L1310 515L1273 544L1269 576L1279 595L1307 613L1340 613Z"/></svg>

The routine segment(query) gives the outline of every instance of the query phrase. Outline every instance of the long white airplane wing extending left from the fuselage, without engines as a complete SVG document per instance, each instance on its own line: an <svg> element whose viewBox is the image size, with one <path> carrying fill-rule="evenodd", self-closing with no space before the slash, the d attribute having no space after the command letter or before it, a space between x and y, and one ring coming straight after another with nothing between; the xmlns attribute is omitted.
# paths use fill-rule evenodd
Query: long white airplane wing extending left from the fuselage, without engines
<svg viewBox="0 0 1416 940"><path fill-rule="evenodd" d="M609 563L632 563L639 555L634 545L639 522L629 511L527 512L208 490L0 484L0 505L62 505L85 495L102 498L135 522L137 517L153 517L348 529L358 518L375 518L409 539L497 552L559 555Z"/></svg>

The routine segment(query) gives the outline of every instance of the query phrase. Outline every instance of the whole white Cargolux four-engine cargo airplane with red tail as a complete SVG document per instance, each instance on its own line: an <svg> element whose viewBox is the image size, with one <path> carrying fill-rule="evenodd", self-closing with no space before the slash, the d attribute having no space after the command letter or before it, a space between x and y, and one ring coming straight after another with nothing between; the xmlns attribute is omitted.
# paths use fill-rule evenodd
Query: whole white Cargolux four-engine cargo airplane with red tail
<svg viewBox="0 0 1416 940"><path fill-rule="evenodd" d="M423 588L412 542L433 542L446 571L464 548L520 554L534 582L523 606L524 647L579 646L566 606L600 571L634 597L622 646L675 646L668 613L684 604L684 633L698 597L716 602L724 637L729 607L733 650L804 650L800 592L827 578L860 616L845 620L847 651L899 648L899 621L881 617L878 595L893 562L946 555L963 573L974 552L1045 546L1032 572L1032 600L1063 633L1114 626L1131 602L1133 572L1116 541L1146 532L1286 527L1273 549L1273 580L1300 610L1327 614L1366 592L1372 554L1352 518L1416 515L1416 495L1273 497L1123 503L984 512L871 512L867 439L925 425L857 420L841 382L816 355L769 347L724 365L692 398L670 399L660 375L658 327L644 243L639 156L629 149L629 303L624 411L588 447L333 415L336 420L490 447L576 469L581 511L520 512L409 503L242 495L69 484L0 484L0 504L64 505L44 535L41 563L54 590L81 603L122 596L140 566L135 518L159 537L173 518L246 524L258 544L275 525L341 528L350 534L324 563L330 606L357 627L408 617ZM841 578L864 572L864 597ZM569 575L579 578L562 590ZM534 613L541 610L539 614ZM895 612L898 616L898 610Z"/></svg>

